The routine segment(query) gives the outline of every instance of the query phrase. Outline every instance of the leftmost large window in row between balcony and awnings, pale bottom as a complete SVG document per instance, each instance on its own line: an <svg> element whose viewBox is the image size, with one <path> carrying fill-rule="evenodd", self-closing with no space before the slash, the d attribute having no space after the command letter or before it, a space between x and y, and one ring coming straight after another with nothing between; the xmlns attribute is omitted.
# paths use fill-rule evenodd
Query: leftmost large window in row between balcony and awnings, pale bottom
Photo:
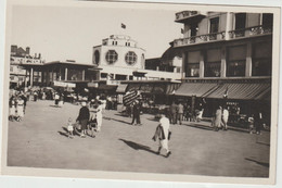
<svg viewBox="0 0 282 188"><path fill-rule="evenodd" d="M188 52L188 63L185 68L187 77L200 76L200 51Z"/></svg>

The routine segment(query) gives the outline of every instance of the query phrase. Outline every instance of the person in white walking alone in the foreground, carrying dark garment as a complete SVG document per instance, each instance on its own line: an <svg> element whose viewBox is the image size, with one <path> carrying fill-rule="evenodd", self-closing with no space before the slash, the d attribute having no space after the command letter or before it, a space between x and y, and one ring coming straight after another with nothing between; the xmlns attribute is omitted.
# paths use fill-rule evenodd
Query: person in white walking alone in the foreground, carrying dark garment
<svg viewBox="0 0 282 188"><path fill-rule="evenodd" d="M171 154L171 151L168 149L168 140L170 139L170 129L169 129L169 120L165 116L165 114L161 115L159 124L156 127L156 131L154 137L152 138L154 141L158 138L159 146L157 150L157 154L161 154L161 150L166 150L166 158Z"/></svg>

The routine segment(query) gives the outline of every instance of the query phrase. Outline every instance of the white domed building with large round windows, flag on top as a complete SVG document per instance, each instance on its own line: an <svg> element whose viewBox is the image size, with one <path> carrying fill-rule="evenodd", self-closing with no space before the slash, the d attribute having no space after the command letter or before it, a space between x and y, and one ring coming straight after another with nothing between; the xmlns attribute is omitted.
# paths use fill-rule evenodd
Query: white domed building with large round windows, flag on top
<svg viewBox="0 0 282 188"><path fill-rule="evenodd" d="M149 60L150 61L150 60ZM171 71L146 68L145 50L129 36L112 35L93 47L93 64L101 68L101 80L180 79ZM166 62L167 63L167 62Z"/></svg>

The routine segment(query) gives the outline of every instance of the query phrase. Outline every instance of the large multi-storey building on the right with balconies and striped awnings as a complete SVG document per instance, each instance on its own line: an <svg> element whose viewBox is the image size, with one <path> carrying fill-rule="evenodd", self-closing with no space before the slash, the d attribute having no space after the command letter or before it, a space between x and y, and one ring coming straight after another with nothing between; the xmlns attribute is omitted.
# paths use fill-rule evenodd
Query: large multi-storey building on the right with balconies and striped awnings
<svg viewBox="0 0 282 188"><path fill-rule="evenodd" d="M211 115L228 93L228 103L248 114L255 104L270 116L273 14L181 11L183 37L172 41L182 53L179 98L205 98Z"/></svg>

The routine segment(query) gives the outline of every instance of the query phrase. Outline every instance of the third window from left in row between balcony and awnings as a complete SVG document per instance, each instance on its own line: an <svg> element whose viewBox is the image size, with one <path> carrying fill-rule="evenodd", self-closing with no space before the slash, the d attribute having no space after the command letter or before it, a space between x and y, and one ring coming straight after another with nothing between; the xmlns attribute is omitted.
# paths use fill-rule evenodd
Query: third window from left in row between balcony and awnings
<svg viewBox="0 0 282 188"><path fill-rule="evenodd" d="M228 48L227 76L245 76L246 46Z"/></svg>

